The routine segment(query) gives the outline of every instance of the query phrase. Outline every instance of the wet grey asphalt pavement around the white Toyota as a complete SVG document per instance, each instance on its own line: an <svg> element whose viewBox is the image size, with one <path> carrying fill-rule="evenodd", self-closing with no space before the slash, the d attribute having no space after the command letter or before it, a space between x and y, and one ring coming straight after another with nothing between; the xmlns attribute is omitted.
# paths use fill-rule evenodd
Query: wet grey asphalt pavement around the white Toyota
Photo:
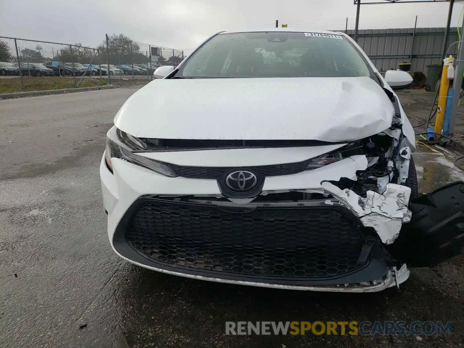
<svg viewBox="0 0 464 348"><path fill-rule="evenodd" d="M0 347L463 347L463 258L400 289L332 294L217 284L119 259L98 166L135 89L0 101ZM415 155L422 192L463 174ZM229 336L226 321L451 321L451 336Z"/></svg>

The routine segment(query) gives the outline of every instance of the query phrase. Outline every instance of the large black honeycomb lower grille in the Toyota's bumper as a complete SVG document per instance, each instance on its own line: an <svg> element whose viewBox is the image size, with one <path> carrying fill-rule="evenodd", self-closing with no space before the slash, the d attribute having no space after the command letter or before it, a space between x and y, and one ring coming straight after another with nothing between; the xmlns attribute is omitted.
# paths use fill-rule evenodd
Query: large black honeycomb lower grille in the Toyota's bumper
<svg viewBox="0 0 464 348"><path fill-rule="evenodd" d="M157 263L251 277L334 277L355 271L362 239L339 207L246 207L147 199L125 239Z"/></svg>

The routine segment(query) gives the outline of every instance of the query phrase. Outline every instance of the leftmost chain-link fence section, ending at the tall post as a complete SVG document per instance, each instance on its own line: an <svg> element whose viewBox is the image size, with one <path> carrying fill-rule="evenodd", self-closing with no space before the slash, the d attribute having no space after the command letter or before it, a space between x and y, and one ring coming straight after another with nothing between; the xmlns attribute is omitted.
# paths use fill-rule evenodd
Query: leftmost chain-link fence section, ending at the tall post
<svg viewBox="0 0 464 348"><path fill-rule="evenodd" d="M99 56L97 48L80 44L0 37L0 76L19 77L21 90L37 84L48 89L101 86L105 71L99 67ZM53 84L55 80L26 77L65 78Z"/></svg>

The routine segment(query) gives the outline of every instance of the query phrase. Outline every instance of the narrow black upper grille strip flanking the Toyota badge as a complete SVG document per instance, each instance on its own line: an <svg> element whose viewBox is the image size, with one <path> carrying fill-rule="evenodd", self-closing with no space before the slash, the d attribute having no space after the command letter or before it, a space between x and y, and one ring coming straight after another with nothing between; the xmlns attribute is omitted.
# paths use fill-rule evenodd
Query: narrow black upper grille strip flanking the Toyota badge
<svg viewBox="0 0 464 348"><path fill-rule="evenodd" d="M259 177L290 175L303 172L308 167L310 161L311 159L296 163L252 166L242 169L251 169ZM237 167L188 167L175 164L169 164L169 166L179 176L196 179L221 179L228 172L234 169L237 170Z"/></svg>

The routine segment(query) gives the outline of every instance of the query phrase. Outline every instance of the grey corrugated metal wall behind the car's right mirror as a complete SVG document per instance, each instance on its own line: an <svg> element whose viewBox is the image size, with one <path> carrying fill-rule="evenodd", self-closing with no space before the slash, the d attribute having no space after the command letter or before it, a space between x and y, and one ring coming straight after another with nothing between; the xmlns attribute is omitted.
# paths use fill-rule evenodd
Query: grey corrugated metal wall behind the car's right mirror
<svg viewBox="0 0 464 348"><path fill-rule="evenodd" d="M354 37L354 30L347 34ZM440 64L445 28L367 29L358 32L358 44L379 71L397 69L399 63L411 63L411 71L427 74L427 65ZM450 29L449 45L458 41L457 28ZM449 54L458 52L452 45Z"/></svg>

